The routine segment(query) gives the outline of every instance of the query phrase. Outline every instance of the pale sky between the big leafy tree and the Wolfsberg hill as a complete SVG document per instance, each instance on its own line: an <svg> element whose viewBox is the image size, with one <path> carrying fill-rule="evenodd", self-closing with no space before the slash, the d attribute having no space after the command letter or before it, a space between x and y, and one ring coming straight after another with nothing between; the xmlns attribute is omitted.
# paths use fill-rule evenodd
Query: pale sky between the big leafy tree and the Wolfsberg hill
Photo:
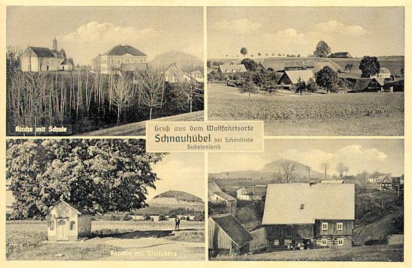
<svg viewBox="0 0 412 268"><path fill-rule="evenodd" d="M205 200L205 157L203 153L170 153L152 165L161 180L156 190L148 188L148 200L168 190L188 192Z"/></svg>

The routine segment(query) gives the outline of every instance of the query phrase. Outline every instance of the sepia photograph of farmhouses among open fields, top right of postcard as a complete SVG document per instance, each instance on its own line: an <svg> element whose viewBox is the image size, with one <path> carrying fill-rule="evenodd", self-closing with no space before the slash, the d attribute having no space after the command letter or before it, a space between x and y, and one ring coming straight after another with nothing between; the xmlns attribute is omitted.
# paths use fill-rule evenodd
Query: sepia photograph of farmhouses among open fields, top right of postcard
<svg viewBox="0 0 412 268"><path fill-rule="evenodd" d="M207 7L208 120L404 135L404 7Z"/></svg>

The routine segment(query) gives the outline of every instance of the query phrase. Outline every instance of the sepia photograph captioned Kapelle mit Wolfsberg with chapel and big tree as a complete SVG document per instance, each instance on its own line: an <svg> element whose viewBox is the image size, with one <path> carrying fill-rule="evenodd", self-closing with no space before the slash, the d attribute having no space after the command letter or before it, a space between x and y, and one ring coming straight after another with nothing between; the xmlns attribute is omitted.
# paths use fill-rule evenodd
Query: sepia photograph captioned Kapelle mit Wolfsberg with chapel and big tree
<svg viewBox="0 0 412 268"><path fill-rule="evenodd" d="M203 154L8 139L6 260L205 260Z"/></svg>

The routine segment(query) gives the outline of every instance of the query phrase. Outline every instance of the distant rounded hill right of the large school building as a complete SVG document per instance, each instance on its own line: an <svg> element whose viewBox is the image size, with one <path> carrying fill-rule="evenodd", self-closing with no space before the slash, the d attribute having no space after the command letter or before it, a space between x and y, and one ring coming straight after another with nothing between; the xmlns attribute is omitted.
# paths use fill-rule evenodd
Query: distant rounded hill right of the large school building
<svg viewBox="0 0 412 268"><path fill-rule="evenodd" d="M179 51L170 51L157 55L148 62L148 65L165 69L172 63L176 63L179 67L183 67L188 63L203 67L203 61L200 58Z"/></svg>

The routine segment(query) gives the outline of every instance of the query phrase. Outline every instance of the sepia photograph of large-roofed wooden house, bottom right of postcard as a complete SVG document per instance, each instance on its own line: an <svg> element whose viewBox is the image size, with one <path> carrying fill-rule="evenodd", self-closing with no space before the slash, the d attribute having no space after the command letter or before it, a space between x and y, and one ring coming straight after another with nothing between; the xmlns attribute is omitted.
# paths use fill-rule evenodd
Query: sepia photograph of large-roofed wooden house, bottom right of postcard
<svg viewBox="0 0 412 268"><path fill-rule="evenodd" d="M404 260L403 139L209 153L209 260Z"/></svg>

